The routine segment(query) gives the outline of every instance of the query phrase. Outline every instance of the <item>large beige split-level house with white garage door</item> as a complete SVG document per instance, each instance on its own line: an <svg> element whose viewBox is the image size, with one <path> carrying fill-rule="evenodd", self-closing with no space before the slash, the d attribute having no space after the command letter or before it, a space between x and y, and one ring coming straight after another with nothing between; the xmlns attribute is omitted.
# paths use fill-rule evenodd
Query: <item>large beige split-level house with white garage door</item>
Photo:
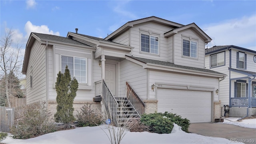
<svg viewBox="0 0 256 144"><path fill-rule="evenodd" d="M97 96L125 97L128 82L139 114L168 111L191 122L214 122L220 118L216 92L225 74L204 68L210 41L195 23L155 16L127 22L106 38L78 29L67 37L32 32L22 69L27 102L46 101L55 113L57 73L68 65L79 82L75 110L86 103L100 108Z"/></svg>

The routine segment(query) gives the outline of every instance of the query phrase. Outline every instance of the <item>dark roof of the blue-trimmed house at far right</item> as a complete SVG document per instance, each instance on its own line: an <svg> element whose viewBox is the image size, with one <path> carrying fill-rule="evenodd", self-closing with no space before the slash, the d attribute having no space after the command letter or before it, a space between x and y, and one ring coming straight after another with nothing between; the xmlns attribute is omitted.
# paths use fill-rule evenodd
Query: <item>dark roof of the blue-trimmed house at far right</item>
<svg viewBox="0 0 256 144"><path fill-rule="evenodd" d="M248 52L256 53L256 51L249 50L247 48L242 48L242 47L234 46L234 45L226 45L226 46L213 46L212 48L206 48L205 49L205 54L210 54L210 53L218 52L218 51L221 51L221 50L226 50L228 48L236 48L238 50L245 50L245 51L248 51Z"/></svg>

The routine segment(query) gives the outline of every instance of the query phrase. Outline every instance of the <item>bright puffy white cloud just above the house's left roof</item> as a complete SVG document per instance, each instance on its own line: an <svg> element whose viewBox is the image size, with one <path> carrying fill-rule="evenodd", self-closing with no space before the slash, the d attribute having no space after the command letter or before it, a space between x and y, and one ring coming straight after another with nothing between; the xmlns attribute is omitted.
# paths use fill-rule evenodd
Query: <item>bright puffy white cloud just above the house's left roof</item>
<svg viewBox="0 0 256 144"><path fill-rule="evenodd" d="M41 25L41 26L33 25L30 21L28 21L25 24L24 29L26 31L26 38L28 38L30 36L31 32L42 33L42 34L52 34L52 35L60 36L60 32L53 32L46 25Z"/></svg>

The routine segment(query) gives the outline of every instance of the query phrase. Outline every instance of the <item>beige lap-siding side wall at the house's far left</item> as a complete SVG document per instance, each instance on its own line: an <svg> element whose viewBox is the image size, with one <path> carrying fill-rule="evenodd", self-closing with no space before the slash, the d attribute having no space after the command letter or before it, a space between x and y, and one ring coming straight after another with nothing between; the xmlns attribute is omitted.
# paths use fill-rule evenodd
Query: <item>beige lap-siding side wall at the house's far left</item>
<svg viewBox="0 0 256 144"><path fill-rule="evenodd" d="M30 52L28 70L26 74L27 103L46 100L46 60L45 45L35 41ZM30 85L31 66L33 67L32 88Z"/></svg>

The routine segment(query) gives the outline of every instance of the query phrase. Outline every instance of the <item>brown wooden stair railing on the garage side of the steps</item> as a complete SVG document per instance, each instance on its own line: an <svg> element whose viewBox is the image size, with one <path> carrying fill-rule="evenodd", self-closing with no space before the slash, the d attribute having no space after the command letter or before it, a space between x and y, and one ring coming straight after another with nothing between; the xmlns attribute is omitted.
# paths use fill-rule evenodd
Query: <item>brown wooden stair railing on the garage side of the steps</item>
<svg viewBox="0 0 256 144"><path fill-rule="evenodd" d="M126 82L127 87L127 98L132 103L137 112L141 115L145 112L145 103L140 99L140 97L134 92L132 87Z"/></svg>

